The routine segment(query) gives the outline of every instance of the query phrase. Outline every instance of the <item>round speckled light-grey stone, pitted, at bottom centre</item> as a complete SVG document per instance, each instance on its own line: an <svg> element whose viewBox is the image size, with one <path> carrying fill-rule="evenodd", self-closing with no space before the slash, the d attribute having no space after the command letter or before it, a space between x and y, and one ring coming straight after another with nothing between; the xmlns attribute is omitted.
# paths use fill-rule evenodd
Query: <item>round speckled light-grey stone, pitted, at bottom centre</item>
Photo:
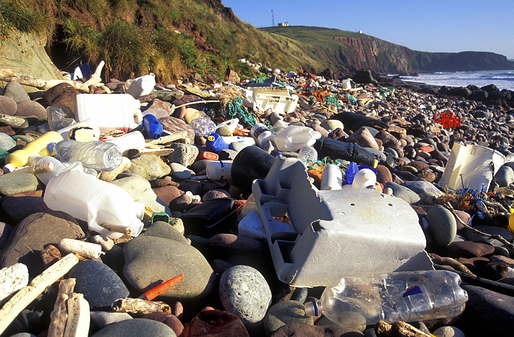
<svg viewBox="0 0 514 337"><path fill-rule="evenodd" d="M271 290L258 270L238 265L222 274L219 298L228 312L251 324L264 318L271 304Z"/></svg>

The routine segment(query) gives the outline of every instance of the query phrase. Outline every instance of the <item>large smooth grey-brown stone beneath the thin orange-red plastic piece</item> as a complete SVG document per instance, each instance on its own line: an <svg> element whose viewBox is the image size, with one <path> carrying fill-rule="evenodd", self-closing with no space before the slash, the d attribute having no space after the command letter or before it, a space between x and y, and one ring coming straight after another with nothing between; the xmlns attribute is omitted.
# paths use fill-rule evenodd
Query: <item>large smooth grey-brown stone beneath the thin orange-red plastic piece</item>
<svg viewBox="0 0 514 337"><path fill-rule="evenodd" d="M125 244L126 280L139 291L155 281L167 281L184 274L182 280L165 291L163 299L190 299L212 291L216 276L196 248L156 236L139 236Z"/></svg>

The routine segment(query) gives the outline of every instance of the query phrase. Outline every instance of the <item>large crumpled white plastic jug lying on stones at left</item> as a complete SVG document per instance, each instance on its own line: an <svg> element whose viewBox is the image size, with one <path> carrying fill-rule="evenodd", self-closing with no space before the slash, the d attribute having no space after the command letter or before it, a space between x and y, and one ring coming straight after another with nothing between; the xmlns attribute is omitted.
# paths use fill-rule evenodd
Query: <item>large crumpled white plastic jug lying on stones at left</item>
<svg viewBox="0 0 514 337"><path fill-rule="evenodd" d="M134 202L121 187L84 173L79 162L50 179L43 200L52 210L87 221L90 230L111 239L118 239L122 234L108 231L101 224L129 227L133 236L143 229L144 204Z"/></svg>

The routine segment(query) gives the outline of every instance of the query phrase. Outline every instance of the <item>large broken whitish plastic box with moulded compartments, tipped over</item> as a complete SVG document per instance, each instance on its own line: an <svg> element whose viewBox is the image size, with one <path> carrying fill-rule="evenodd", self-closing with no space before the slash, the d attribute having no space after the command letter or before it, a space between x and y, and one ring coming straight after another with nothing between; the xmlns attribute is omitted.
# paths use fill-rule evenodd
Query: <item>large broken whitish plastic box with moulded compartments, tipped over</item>
<svg viewBox="0 0 514 337"><path fill-rule="evenodd" d="M318 191L302 162L280 156L252 192L284 283L315 287L342 276L433 270L418 216L400 198L365 188ZM276 220L285 214L287 226Z"/></svg>

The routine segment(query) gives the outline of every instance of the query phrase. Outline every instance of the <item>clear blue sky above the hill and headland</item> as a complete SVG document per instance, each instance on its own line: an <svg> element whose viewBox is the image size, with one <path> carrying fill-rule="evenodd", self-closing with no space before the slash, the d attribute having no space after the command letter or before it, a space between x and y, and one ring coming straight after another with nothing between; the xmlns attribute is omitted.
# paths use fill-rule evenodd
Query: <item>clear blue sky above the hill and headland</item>
<svg viewBox="0 0 514 337"><path fill-rule="evenodd" d="M410 49L490 51L514 59L512 0L222 0L255 27L288 21L359 31Z"/></svg>

